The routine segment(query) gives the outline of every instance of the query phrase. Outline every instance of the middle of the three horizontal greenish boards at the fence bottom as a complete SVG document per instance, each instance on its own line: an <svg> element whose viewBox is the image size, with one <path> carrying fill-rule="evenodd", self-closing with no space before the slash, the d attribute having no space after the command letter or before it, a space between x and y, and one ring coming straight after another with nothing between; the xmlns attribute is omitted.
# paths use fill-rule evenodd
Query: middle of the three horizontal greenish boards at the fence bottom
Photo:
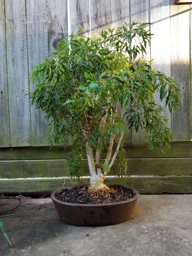
<svg viewBox="0 0 192 256"><path fill-rule="evenodd" d="M68 176L67 160L0 161L2 178ZM83 175L89 175L87 160L83 160ZM192 175L192 158L130 158L127 175ZM116 175L111 170L110 175Z"/></svg>

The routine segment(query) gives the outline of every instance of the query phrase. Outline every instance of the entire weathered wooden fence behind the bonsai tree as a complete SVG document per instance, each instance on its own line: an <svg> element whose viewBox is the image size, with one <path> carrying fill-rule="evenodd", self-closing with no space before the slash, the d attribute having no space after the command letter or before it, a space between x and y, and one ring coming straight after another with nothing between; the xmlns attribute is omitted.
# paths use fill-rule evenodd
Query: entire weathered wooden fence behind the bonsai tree
<svg viewBox="0 0 192 256"><path fill-rule="evenodd" d="M173 0L0 0L0 192L50 193L64 182L87 180L64 178L66 152L49 151L47 122L26 96L35 87L29 74L71 32L82 29L93 37L132 20L152 23L146 58L154 59L154 69L175 77L182 107L172 115L164 109L173 147L165 155L149 151L146 133L130 131L125 141L130 177L108 182L143 193L192 192L191 7Z"/></svg>

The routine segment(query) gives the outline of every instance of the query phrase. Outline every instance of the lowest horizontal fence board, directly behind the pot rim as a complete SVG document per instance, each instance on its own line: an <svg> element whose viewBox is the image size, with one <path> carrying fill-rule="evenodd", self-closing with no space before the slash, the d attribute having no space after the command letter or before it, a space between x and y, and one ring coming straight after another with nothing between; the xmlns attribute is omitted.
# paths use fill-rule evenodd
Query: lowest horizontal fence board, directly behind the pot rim
<svg viewBox="0 0 192 256"><path fill-rule="evenodd" d="M82 179L0 179L0 193L51 194L64 186L89 183L89 177ZM192 176L167 177L109 177L108 184L121 184L136 188L141 194L192 193Z"/></svg>

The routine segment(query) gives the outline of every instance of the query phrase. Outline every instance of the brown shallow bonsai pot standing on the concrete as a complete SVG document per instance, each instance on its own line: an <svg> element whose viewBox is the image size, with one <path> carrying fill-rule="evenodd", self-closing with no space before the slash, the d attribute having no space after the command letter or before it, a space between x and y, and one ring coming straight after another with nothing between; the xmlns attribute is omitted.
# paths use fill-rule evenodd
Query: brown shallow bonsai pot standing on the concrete
<svg viewBox="0 0 192 256"><path fill-rule="evenodd" d="M128 188L126 186L123 187ZM51 199L60 219L66 224L74 226L112 225L125 222L132 215L139 192L133 188L129 189L134 192L135 196L130 200L117 203L87 205L65 203L55 198L55 194L62 189L53 192Z"/></svg>

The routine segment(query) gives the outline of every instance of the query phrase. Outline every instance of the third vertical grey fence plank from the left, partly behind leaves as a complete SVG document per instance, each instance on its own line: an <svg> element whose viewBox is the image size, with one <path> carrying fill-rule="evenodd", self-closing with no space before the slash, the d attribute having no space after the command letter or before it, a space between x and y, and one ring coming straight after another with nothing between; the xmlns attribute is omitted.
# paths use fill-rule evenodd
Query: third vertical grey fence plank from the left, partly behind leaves
<svg viewBox="0 0 192 256"><path fill-rule="evenodd" d="M26 0L27 37L28 37L28 63L29 73L49 55L47 32L47 1ZM30 80L30 92L35 85ZM41 109L31 106L31 145L48 145L49 128Z"/></svg>

